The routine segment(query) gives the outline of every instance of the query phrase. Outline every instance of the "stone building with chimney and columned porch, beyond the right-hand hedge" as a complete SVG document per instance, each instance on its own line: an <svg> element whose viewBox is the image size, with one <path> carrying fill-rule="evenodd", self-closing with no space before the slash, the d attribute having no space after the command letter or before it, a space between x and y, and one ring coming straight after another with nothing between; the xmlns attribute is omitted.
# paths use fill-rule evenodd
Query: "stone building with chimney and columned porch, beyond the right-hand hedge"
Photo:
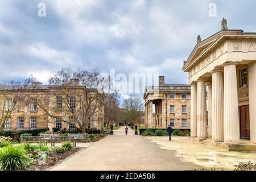
<svg viewBox="0 0 256 182"><path fill-rule="evenodd" d="M145 126L190 129L190 92L189 85L164 84L164 76L160 76L159 86L148 86L144 93Z"/></svg>

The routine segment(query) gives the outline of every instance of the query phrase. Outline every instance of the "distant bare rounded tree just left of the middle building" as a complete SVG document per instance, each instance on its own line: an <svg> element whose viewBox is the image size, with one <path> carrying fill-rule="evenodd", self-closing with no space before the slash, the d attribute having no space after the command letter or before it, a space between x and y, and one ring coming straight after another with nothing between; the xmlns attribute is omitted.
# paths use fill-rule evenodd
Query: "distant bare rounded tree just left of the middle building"
<svg viewBox="0 0 256 182"><path fill-rule="evenodd" d="M124 100L123 109L123 114L127 122L141 125L144 105L140 97L130 96Z"/></svg>

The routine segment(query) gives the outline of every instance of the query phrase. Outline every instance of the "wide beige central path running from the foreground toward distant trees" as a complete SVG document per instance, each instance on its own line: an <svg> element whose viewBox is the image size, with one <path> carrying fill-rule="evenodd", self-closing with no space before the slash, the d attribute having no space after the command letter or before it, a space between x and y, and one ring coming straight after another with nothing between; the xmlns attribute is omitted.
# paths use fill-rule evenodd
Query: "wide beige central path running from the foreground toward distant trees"
<svg viewBox="0 0 256 182"><path fill-rule="evenodd" d="M169 142L169 141L168 141ZM88 148L80 151L52 170L193 170L200 168L192 162L184 162L175 150L161 149L150 139L134 135L125 127Z"/></svg>

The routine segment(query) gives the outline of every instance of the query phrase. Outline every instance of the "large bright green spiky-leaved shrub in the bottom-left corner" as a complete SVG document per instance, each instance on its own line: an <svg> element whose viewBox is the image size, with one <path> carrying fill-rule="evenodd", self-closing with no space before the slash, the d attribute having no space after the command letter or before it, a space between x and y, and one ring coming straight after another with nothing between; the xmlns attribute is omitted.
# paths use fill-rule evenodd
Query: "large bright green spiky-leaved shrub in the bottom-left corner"
<svg viewBox="0 0 256 182"><path fill-rule="evenodd" d="M30 165L31 159L22 147L7 146L0 150L0 169L19 170Z"/></svg>

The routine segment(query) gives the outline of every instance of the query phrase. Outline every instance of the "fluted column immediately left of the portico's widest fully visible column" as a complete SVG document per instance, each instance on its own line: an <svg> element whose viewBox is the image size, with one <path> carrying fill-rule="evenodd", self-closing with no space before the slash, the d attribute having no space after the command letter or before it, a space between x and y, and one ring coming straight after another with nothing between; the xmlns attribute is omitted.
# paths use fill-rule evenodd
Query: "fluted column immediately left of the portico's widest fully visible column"
<svg viewBox="0 0 256 182"><path fill-rule="evenodd" d="M212 71L212 139L224 141L223 133L223 71Z"/></svg>

